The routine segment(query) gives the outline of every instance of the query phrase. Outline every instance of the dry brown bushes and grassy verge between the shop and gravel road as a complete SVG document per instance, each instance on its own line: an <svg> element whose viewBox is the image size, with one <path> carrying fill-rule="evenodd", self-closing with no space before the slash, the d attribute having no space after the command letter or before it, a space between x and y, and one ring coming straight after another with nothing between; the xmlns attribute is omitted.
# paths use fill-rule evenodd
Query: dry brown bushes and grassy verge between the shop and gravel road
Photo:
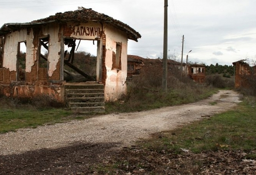
<svg viewBox="0 0 256 175"><path fill-rule="evenodd" d="M189 77L180 80L174 74L167 77L166 93L162 91L162 72L152 69L143 71L143 74L127 82L127 94L122 96L122 101L106 103L107 112L141 111L192 103L213 93L211 88L201 86Z"/></svg>

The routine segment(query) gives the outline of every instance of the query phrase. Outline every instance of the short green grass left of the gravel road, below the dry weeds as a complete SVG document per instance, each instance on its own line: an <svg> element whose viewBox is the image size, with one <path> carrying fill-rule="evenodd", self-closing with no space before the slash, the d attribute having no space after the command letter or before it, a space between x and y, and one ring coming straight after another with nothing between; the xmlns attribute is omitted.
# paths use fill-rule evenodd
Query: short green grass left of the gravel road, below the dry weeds
<svg viewBox="0 0 256 175"><path fill-rule="evenodd" d="M0 109L0 133L76 119L71 114L64 109Z"/></svg>

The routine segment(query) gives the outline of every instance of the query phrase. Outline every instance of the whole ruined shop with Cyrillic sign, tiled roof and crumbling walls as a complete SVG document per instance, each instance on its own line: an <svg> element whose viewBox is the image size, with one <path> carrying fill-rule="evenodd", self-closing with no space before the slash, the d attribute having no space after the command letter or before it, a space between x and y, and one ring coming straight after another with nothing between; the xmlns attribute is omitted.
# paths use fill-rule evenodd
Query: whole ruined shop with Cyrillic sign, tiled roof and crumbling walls
<svg viewBox="0 0 256 175"><path fill-rule="evenodd" d="M140 37L127 24L82 7L29 23L6 23L0 28L0 94L28 96L45 93L61 101L70 101L71 108L81 108L78 103L88 100L79 101L85 96L79 97L79 94L89 93L81 89L94 89L99 85L99 89L104 90L100 90L103 95L95 91L90 96L97 94L101 103L102 99L103 102L116 100L126 91L128 39L137 41ZM64 80L64 64L84 77L88 76L72 64L76 59L73 56L76 40L91 40L97 45L96 82L78 84ZM26 46L25 60L20 59L22 43ZM47 56L41 53L42 48L47 50ZM66 57L66 48L71 48L69 57ZM43 62L46 66L42 66ZM72 100L78 103L73 105ZM97 99L94 102L90 106L96 108Z"/></svg>

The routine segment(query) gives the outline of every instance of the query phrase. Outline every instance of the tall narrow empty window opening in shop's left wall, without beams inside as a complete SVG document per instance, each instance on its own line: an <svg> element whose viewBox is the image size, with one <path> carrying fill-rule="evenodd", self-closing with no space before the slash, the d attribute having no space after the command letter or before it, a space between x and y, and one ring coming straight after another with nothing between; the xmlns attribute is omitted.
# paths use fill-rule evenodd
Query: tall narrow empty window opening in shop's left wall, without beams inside
<svg viewBox="0 0 256 175"><path fill-rule="evenodd" d="M18 43L17 48L17 72L16 80L25 81L25 69L26 69L26 42Z"/></svg>

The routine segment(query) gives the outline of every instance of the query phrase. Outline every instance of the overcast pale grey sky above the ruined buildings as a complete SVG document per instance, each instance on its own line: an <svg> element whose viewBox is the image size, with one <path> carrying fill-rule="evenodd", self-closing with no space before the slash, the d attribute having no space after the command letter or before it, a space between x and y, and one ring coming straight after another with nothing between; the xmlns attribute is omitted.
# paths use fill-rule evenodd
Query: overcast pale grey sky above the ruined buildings
<svg viewBox="0 0 256 175"><path fill-rule="evenodd" d="M164 0L0 0L0 26L26 23L92 8L128 24L142 35L128 42L128 54L163 57ZM256 0L168 0L168 50L183 60L231 65L256 57ZM90 51L86 51L90 52ZM185 62L185 61L184 61Z"/></svg>

